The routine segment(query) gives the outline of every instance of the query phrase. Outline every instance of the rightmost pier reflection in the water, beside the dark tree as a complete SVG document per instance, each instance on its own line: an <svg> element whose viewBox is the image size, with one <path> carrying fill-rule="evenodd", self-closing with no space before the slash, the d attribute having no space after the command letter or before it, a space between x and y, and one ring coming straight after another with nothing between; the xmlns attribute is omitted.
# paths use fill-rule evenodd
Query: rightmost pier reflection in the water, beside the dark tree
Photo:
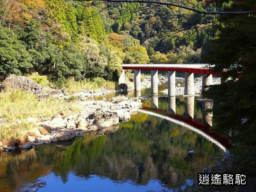
<svg viewBox="0 0 256 192"><path fill-rule="evenodd" d="M213 107L213 101L202 102L202 117L205 126L212 126L212 112L209 112Z"/></svg>

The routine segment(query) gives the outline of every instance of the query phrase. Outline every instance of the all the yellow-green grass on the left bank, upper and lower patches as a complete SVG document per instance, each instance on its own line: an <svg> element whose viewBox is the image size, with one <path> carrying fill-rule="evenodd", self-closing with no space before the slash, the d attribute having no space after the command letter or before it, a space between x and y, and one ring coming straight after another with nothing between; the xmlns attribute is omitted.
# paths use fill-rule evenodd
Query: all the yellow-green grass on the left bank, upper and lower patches
<svg viewBox="0 0 256 192"><path fill-rule="evenodd" d="M28 132L35 129L26 121L28 117L50 119L61 110L67 113L80 110L72 102L54 98L38 100L33 93L20 90L0 92L0 106L0 117L6 121L0 126L0 142L4 144L22 142Z"/></svg>

